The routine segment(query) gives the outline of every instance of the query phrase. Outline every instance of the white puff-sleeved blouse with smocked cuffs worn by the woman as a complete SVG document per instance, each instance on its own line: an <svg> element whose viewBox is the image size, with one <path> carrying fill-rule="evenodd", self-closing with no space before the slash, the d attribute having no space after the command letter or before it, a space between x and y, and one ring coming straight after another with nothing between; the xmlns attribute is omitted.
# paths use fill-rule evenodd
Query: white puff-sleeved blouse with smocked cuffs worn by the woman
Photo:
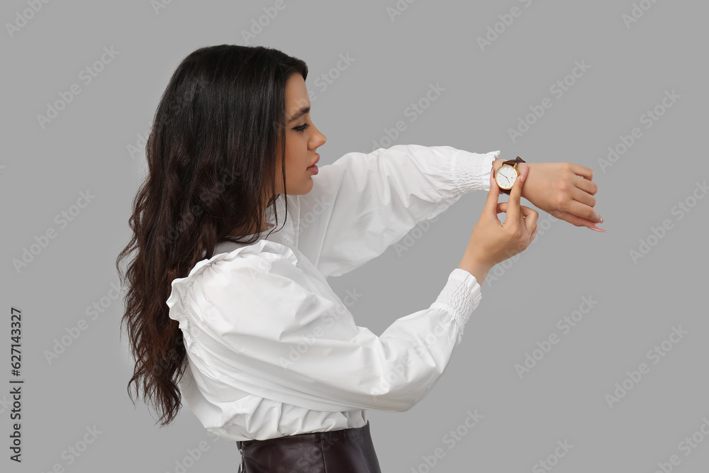
<svg viewBox="0 0 709 473"><path fill-rule="evenodd" d="M453 269L428 308L379 336L357 326L325 278L381 255L463 194L488 191L498 154L347 153L320 167L308 194L287 196L284 228L252 245L221 242L174 279L169 317L188 360L179 387L204 428L225 440L357 428L367 409L402 412L423 399L480 302L475 277ZM266 217L275 223L272 208Z"/></svg>

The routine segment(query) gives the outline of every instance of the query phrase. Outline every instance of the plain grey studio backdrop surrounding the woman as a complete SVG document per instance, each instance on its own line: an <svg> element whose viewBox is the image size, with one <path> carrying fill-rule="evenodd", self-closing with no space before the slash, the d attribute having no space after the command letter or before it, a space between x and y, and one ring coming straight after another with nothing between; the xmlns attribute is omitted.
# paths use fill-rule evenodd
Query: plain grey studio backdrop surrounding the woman
<svg viewBox="0 0 709 473"><path fill-rule="evenodd" d="M0 33L5 447L13 423L11 306L23 313L25 380L23 462L11 462L4 448L0 468L177 472L188 450L204 440L208 448L187 462L187 472L237 470L235 443L213 441L189 408L160 429L145 404L130 403L132 361L125 335L119 340L122 302L104 299L110 304L96 320L86 315L87 306L111 294L118 281L113 263L130 236L130 202L144 155L132 156L128 146L147 137L160 94L184 56L232 43L272 46L308 63L306 84L317 96L313 121L328 138L319 150L323 164L346 152L371 151L372 140L403 120L407 128L393 144L576 162L593 169L598 183L596 209L607 233L549 220L518 260L493 269L498 279L483 284L462 344L430 394L406 413L369 411L383 471L543 471L537 462L552 455L559 440L573 447L554 471L654 472L671 455L680 460L674 471L706 471L709 438L697 434L703 443L688 456L679 444L709 418L709 199L696 201L681 219L672 209L692 195L696 182L705 182L709 167L709 6L635 2L650 8L628 28L623 15L632 14L634 4L627 0L402 0L398 4L408 7L393 21L387 11L396 8L393 0L285 0L285 9L247 43L242 30L275 3L175 0L156 10L149 1L51 1L12 38L7 26ZM520 16L481 50L476 38L514 6ZM0 18L15 23L28 8L26 1L5 1ZM79 72L99 60L104 47L120 53L84 84ZM347 53L354 62L323 90L316 79ZM549 87L571 73L574 61L591 68L557 99ZM75 83L81 93L42 128L36 116ZM412 123L404 111L431 83L445 91ZM681 98L644 128L640 116L661 104L666 90ZM508 129L545 97L552 108L513 143ZM634 127L642 138L603 172L599 159ZM60 228L55 216L87 189L95 198ZM330 279L340 296L354 289L362 294L350 307L358 325L381 333L396 318L428 307L459 263L484 200L484 193L464 196L430 227L412 230L407 251L391 247ZM665 219L671 230L633 262L630 250ZM13 259L49 228L56 238L16 271ZM563 334L557 321L584 296L598 303ZM45 351L81 319L86 330L48 362ZM688 333L653 365L648 350L680 325ZM559 343L520 379L515 364L551 333ZM642 362L649 373L611 408L605 394ZM475 409L484 418L450 448L444 436ZM70 463L62 452L94 426L101 433ZM445 455L428 466L425 457L432 462L439 447Z"/></svg>

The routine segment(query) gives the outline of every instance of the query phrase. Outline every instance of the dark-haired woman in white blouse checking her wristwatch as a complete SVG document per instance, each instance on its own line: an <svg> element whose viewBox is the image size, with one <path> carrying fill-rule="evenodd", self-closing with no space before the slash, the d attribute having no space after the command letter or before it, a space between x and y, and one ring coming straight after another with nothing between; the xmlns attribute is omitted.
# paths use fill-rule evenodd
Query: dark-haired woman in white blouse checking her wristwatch
<svg viewBox="0 0 709 473"><path fill-rule="evenodd" d="M597 228L596 184L583 166L522 164L498 204L498 152L445 146L352 152L318 169L325 136L310 117L307 74L278 50L220 45L192 52L170 79L134 235L116 262L135 253L125 272L128 394L142 386L162 425L184 398L206 429L237 442L239 471L379 472L367 409L406 411L437 382L486 274L535 238L538 213L520 196ZM487 187L432 305L379 337L355 325L325 278Z"/></svg>

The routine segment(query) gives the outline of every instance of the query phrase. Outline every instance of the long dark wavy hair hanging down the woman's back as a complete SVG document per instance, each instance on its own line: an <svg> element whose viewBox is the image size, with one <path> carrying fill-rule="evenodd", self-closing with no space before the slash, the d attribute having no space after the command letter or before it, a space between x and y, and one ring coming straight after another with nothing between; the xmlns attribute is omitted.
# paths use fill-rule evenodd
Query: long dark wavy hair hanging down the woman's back
<svg viewBox="0 0 709 473"><path fill-rule="evenodd" d="M147 176L128 220L133 237L116 269L121 285L128 282L121 320L135 360L128 396L135 404L130 386L138 397L142 387L162 426L182 406L178 383L186 366L182 333L166 304L172 281L212 257L220 240L255 243L258 235L230 234L264 228L267 208L275 211L277 157L286 189L285 89L294 73L306 79L306 63L273 48L201 48L182 60L157 106Z"/></svg>

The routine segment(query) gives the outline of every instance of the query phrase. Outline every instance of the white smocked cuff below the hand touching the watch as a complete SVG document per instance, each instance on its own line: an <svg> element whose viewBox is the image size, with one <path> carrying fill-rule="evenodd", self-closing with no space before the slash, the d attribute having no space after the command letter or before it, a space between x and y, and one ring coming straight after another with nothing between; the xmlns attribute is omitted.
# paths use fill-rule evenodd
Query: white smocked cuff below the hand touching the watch
<svg viewBox="0 0 709 473"><path fill-rule="evenodd" d="M481 291L475 277L465 269L455 268L448 276L448 281L430 308L445 311L454 320L458 328L458 342L463 335L463 328L471 313L480 304Z"/></svg>

